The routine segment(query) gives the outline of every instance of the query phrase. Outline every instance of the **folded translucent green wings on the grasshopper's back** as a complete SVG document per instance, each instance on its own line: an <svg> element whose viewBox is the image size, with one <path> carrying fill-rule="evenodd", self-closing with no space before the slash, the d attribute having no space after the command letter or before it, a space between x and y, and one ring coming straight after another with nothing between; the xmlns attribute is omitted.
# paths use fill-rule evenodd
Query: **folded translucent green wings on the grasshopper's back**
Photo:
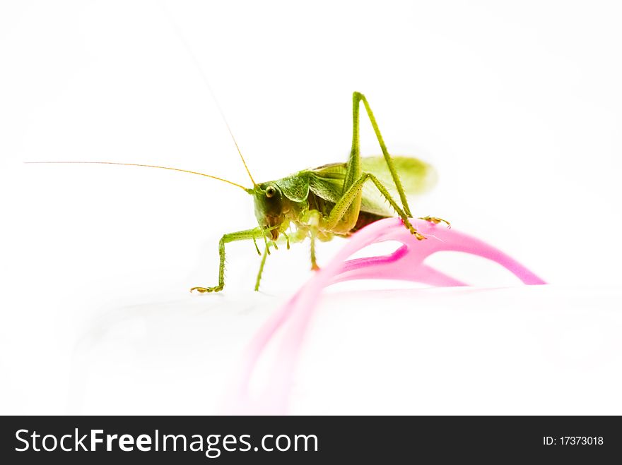
<svg viewBox="0 0 622 465"><path fill-rule="evenodd" d="M392 157L406 195L416 195L434 186L436 174L429 164L412 157ZM330 202L336 203L341 197L346 176L346 163L326 164L310 170L310 190ZM361 171L374 174L385 185L395 200L399 201L397 187L391 177L384 157L363 157L360 159ZM375 215L392 216L392 209L385 198L372 183L363 186L363 200L360 209Z"/></svg>

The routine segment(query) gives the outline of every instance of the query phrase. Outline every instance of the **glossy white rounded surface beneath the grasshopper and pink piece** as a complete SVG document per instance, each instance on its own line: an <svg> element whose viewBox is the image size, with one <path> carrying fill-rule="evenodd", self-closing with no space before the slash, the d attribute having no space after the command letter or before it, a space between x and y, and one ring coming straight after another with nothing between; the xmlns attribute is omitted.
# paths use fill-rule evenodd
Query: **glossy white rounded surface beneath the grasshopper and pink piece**
<svg viewBox="0 0 622 465"><path fill-rule="evenodd" d="M276 299L222 300L102 315L76 345L69 411L220 413ZM619 291L556 286L331 293L305 339L291 413L620 413L621 304ZM278 357L266 354L259 388Z"/></svg>

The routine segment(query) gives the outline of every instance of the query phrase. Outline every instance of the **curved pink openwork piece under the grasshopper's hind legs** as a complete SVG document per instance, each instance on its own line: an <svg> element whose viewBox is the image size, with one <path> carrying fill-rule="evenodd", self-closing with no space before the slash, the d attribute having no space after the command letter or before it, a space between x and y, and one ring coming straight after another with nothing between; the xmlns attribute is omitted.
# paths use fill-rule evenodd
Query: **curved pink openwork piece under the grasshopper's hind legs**
<svg viewBox="0 0 622 465"><path fill-rule="evenodd" d="M435 252L453 250L487 258L507 268L524 284L546 284L526 267L477 238L423 220L413 220L418 231L429 236L418 241L404 228L401 219L389 218L370 224L348 240L346 246L317 272L257 332L247 348L240 377L225 402L226 413L286 413L295 364L315 304L325 287L352 279L401 279L430 286L465 286L463 282L435 270L423 261ZM372 243L399 241L403 245L389 255L348 258ZM259 357L274 334L283 328L278 360L271 368L270 385L252 397L249 385Z"/></svg>

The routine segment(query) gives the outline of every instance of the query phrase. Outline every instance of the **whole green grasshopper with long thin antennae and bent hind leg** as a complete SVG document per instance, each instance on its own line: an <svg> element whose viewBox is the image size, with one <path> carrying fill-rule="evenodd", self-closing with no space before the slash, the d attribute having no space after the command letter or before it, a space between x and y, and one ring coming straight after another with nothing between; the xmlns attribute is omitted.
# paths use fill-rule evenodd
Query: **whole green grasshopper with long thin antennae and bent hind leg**
<svg viewBox="0 0 622 465"><path fill-rule="evenodd" d="M363 102L365 111L382 149L382 157L360 157L359 150L359 110ZM255 291L259 290L259 282L266 262L270 255L270 246L278 248L277 241L285 238L287 248L290 243L311 239L311 267L318 270L315 256L315 241L329 241L334 236L347 237L379 219L394 216L387 208L385 201L397 212L408 229L417 239L425 236L418 233L410 222L411 210L406 200L406 193L421 193L434 181L434 171L430 165L412 157L392 157L389 155L385 141L367 99L360 92L352 97L353 133L352 149L346 163L325 164L315 169L305 169L276 181L255 183L247 167L240 148L237 147L233 133L231 136L247 171L252 188L209 174L188 171L185 169L157 167L147 164L113 163L113 162L73 162L96 164L122 164L138 167L150 167L183 171L199 174L211 179L229 183L253 196L254 212L259 226L245 231L224 234L218 243L220 265L218 266L218 284L211 287L196 286L190 291L199 293L222 291L225 286L225 244L234 241L253 241L262 261L259 265ZM226 122L226 121L225 121ZM230 130L229 130L230 131ZM231 131L230 131L231 132ZM72 163L72 162L59 162ZM404 183L402 183L404 181ZM397 191L401 205L392 193ZM436 217L423 217L430 222L449 223ZM295 227L292 231L291 226ZM290 234L287 231L290 230ZM257 239L263 239L264 253L257 246Z"/></svg>

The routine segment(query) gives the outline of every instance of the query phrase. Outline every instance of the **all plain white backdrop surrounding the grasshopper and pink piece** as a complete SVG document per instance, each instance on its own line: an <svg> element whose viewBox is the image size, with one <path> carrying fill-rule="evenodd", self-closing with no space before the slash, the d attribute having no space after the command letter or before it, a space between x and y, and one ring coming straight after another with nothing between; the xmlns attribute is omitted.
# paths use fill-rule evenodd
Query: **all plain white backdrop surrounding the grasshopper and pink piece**
<svg viewBox="0 0 622 465"><path fill-rule="evenodd" d="M295 413L622 413L622 10L611 1L3 1L0 412L212 413L308 270L252 292L249 184L345 160L351 92L389 151L433 163L451 219L550 286L357 283L319 303ZM366 155L379 153L362 119ZM322 244L320 264L342 243ZM406 286L409 287L409 286ZM498 289L491 289L498 288Z"/></svg>

